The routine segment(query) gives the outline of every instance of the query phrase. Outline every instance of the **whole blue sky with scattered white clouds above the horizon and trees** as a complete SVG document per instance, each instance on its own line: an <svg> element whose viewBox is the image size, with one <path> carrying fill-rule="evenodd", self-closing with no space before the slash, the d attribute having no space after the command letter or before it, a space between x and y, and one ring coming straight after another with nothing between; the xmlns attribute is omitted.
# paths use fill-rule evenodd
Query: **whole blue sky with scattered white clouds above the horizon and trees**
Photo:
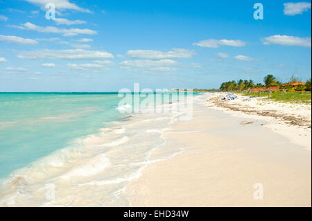
<svg viewBox="0 0 312 221"><path fill-rule="evenodd" d="M0 48L0 91L305 82L311 1L0 0Z"/></svg>

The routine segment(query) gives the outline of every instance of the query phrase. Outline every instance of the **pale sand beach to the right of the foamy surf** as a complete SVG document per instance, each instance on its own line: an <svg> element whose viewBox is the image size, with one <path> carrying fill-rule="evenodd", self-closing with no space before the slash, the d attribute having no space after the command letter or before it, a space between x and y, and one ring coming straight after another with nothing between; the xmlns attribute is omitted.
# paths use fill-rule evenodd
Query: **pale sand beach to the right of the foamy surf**
<svg viewBox="0 0 312 221"><path fill-rule="evenodd" d="M187 148L130 182L131 206L311 206L311 106L259 102L239 97L232 105L307 118L310 128L211 100L195 105L193 119L164 133L168 147ZM263 200L254 198L259 185Z"/></svg>

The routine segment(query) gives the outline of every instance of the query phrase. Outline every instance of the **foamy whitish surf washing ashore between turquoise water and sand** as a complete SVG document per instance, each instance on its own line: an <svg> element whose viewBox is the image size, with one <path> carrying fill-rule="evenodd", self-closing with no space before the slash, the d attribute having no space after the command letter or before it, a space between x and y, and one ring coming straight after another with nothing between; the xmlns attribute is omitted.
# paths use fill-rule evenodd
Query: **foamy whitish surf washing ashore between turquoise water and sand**
<svg viewBox="0 0 312 221"><path fill-rule="evenodd" d="M120 195L128 182L182 150L162 148L162 132L180 114L123 114L74 139L1 179L0 206L129 206Z"/></svg>

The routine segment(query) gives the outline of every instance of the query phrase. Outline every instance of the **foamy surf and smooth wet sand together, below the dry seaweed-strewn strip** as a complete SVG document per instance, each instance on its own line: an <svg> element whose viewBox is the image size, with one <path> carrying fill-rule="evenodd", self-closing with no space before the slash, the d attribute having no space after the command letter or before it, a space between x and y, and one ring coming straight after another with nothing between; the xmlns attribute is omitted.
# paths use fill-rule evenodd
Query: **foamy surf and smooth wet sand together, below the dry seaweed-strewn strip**
<svg viewBox="0 0 312 221"><path fill-rule="evenodd" d="M196 96L189 121L179 121L183 113L177 113L129 114L110 122L98 134L80 138L80 148L58 150L17 171L10 179L12 192L3 193L0 204L29 206L24 199L32 195L35 206L311 205L306 197L311 195L311 152L272 133L263 116L250 120L244 112L236 116L239 112L207 107L211 96ZM259 182L269 193L267 201L252 199ZM58 199L43 199L51 186ZM281 195L298 200L287 202Z"/></svg>

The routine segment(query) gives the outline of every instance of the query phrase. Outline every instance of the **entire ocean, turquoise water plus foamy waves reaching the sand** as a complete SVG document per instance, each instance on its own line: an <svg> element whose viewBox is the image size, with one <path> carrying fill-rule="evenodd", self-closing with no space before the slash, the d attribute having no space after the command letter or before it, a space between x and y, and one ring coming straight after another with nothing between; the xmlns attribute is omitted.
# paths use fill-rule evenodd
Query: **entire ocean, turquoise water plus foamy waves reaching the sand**
<svg viewBox="0 0 312 221"><path fill-rule="evenodd" d="M134 114L117 93L0 93L0 206L130 206L128 182L184 148L164 140L182 114L165 97Z"/></svg>

